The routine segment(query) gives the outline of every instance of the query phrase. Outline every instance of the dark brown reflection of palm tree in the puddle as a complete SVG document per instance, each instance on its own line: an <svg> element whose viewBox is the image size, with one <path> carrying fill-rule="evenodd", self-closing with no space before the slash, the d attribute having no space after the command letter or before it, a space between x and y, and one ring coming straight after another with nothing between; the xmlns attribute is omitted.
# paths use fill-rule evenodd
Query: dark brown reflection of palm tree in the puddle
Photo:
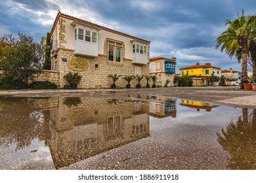
<svg viewBox="0 0 256 183"><path fill-rule="evenodd" d="M248 120L247 108L242 113L236 123L230 122L226 131L222 129L222 134L217 133L219 144L231 156L227 169L256 169L256 109L251 120Z"/></svg>

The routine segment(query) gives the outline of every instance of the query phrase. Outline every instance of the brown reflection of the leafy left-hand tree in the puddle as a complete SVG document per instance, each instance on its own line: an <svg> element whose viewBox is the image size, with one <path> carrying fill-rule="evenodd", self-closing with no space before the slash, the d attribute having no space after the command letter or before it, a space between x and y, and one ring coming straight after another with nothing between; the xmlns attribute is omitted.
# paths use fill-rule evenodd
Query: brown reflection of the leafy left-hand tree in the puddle
<svg viewBox="0 0 256 183"><path fill-rule="evenodd" d="M41 112L34 111L30 99L1 97L0 146L16 144L15 151L29 146L33 139L43 140Z"/></svg>

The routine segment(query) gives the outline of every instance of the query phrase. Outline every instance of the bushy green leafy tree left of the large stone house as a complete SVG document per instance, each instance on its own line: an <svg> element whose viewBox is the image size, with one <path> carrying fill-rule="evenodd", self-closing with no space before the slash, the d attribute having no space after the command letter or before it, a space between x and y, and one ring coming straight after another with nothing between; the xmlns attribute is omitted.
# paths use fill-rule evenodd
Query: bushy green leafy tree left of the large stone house
<svg viewBox="0 0 256 183"><path fill-rule="evenodd" d="M18 38L3 48L2 56L5 78L28 84L41 69L43 46L33 37L18 33Z"/></svg>

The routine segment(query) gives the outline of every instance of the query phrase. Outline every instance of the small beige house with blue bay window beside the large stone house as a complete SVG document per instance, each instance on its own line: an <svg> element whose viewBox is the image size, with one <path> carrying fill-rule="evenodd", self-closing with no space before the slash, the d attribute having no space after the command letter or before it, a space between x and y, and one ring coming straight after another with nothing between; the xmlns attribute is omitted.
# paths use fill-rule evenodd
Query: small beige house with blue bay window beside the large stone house
<svg viewBox="0 0 256 183"><path fill-rule="evenodd" d="M151 58L150 59L150 76L156 75L156 84L158 86L174 86L174 76L176 73L176 58Z"/></svg>

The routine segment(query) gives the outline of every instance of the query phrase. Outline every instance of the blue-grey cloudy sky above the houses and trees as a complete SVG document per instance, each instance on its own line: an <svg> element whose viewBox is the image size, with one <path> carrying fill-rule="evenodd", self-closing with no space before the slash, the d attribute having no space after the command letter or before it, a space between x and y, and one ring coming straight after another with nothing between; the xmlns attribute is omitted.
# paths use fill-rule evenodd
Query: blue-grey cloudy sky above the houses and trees
<svg viewBox="0 0 256 183"><path fill-rule="evenodd" d="M255 14L255 0L0 0L0 35L18 31L36 41L51 31L58 10L151 41L150 58L176 57L177 69L197 62L240 71L215 50L225 20ZM179 72L179 70L178 70Z"/></svg>

